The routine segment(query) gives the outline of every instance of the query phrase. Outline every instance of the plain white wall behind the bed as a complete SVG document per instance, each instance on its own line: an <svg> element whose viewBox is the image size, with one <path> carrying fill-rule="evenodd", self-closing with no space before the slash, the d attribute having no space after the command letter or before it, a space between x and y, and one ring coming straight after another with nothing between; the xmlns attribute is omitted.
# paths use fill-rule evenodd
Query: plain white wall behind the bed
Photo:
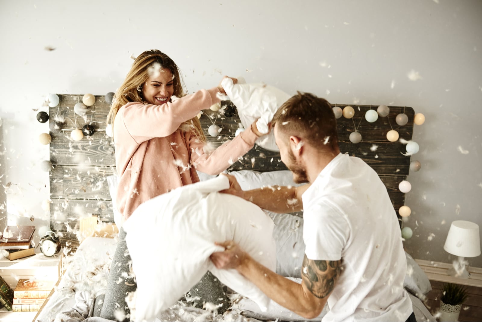
<svg viewBox="0 0 482 322"><path fill-rule="evenodd" d="M405 225L415 234L405 246L416 258L449 262L442 246L450 223L482 226L481 1L77 2L0 2L1 180L12 182L10 213L47 218L40 203L49 178L39 161L49 149L37 138L48 125L34 111L46 110L44 96L115 91L131 54L157 48L181 67L190 92L243 76L332 103L424 113L412 157L422 170L409 175L406 198ZM421 79L410 80L411 70ZM482 256L471 263L482 267Z"/></svg>

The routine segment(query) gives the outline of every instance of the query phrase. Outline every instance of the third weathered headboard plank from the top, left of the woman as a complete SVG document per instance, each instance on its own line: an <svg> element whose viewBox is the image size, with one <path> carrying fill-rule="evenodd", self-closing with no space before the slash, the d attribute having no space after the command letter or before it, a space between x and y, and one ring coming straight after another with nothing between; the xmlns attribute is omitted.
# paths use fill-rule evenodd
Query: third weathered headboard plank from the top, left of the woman
<svg viewBox="0 0 482 322"><path fill-rule="evenodd" d="M114 167L54 165L50 172L50 194L55 199L110 200L107 176Z"/></svg>

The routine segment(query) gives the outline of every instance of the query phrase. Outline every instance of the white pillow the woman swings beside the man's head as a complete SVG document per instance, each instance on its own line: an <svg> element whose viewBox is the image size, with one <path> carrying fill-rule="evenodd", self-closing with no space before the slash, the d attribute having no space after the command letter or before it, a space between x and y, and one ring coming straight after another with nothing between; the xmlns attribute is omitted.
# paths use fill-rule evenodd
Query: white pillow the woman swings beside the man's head
<svg viewBox="0 0 482 322"><path fill-rule="evenodd" d="M260 133L268 133L268 123L281 104L290 98L290 95L276 87L262 83L246 84L241 79L234 84L233 80L227 77L223 79L221 86L236 106L244 128L247 129L251 123L259 119L256 127ZM271 151L280 150L276 145L273 131L259 138L256 143Z"/></svg>

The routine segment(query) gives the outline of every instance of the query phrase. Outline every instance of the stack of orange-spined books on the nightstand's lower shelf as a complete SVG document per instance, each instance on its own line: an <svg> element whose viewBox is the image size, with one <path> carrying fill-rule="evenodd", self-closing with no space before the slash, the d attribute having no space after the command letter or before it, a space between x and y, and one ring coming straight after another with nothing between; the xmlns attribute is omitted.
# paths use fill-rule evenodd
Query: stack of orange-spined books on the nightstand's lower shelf
<svg viewBox="0 0 482 322"><path fill-rule="evenodd" d="M38 311L54 288L54 284L53 281L18 280L17 287L13 291L13 311Z"/></svg>

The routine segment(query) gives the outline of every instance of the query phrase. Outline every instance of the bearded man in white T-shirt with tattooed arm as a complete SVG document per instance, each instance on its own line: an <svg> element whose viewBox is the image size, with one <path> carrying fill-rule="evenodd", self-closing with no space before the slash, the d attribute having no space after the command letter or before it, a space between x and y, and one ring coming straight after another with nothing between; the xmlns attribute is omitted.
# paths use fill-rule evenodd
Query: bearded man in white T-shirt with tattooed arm
<svg viewBox="0 0 482 322"><path fill-rule="evenodd" d="M323 321L415 321L403 289L406 259L397 216L387 189L359 158L340 153L330 104L298 92L275 114L272 125L281 161L297 188L242 191L236 194L263 209L283 213L303 209L306 244L301 284L254 261L232 241L211 259L217 268L235 268L283 307ZM408 318L408 320L407 320Z"/></svg>

